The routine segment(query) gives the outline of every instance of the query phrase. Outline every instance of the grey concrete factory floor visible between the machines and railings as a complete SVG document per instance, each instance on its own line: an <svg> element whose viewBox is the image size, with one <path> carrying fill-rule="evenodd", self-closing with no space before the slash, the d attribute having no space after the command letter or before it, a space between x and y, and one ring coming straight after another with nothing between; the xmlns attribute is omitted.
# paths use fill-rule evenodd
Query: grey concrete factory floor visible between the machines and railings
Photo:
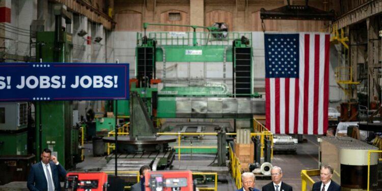
<svg viewBox="0 0 382 191"><path fill-rule="evenodd" d="M314 135L304 135L306 142L299 143L297 145L296 153L275 153L272 160L272 165L279 166L283 169L283 181L293 186L294 190L301 190L301 176L300 172L303 169L317 169L318 168L318 143L317 138ZM235 181L232 178L228 162L226 167L211 167L209 166L213 161L214 156L208 154L183 154L181 160L178 160L178 156L175 156L175 160L172 164L172 170L191 170L193 172L217 172L219 174L217 184L217 190L219 191L232 191L236 190ZM76 170L97 170L104 167L106 164L105 157L94 157L92 144L85 144L85 161L78 163ZM315 181L319 180L319 177L313 178ZM261 187L269 183L270 177L257 176L256 188ZM198 185L198 187L213 186ZM11 182L6 185L0 186L2 190L28 190L26 189L26 182Z"/></svg>

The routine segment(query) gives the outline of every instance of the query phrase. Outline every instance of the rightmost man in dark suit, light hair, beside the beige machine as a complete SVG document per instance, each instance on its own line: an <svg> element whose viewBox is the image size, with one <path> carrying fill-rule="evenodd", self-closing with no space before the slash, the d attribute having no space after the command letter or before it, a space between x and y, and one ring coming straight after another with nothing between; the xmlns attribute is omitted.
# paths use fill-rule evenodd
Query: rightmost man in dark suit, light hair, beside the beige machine
<svg viewBox="0 0 382 191"><path fill-rule="evenodd" d="M313 184L312 191L341 191L341 186L332 180L334 168L330 165L321 167L321 181Z"/></svg>

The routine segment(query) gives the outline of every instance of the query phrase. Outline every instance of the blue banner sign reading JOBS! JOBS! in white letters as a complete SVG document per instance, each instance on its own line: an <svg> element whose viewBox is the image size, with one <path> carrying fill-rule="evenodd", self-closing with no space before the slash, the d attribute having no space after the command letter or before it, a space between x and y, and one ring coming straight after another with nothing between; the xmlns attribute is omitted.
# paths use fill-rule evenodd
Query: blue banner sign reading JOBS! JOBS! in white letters
<svg viewBox="0 0 382 191"><path fill-rule="evenodd" d="M129 64L0 64L0 101L129 99L128 86Z"/></svg>

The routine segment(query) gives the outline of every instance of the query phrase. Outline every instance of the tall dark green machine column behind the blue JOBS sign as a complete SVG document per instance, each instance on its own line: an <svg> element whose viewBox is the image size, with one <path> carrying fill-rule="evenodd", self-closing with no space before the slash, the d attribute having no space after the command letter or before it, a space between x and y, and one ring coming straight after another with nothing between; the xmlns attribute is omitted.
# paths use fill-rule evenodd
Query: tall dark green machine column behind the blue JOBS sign
<svg viewBox="0 0 382 191"><path fill-rule="evenodd" d="M41 62L71 62L72 34L71 15L62 5L54 6L56 27L54 32L37 32L36 56ZM66 28L62 27L65 18ZM43 148L49 148L66 168L80 162L78 148L79 127L73 124L72 101L40 101L35 103L36 156ZM38 160L38 157L37 157Z"/></svg>

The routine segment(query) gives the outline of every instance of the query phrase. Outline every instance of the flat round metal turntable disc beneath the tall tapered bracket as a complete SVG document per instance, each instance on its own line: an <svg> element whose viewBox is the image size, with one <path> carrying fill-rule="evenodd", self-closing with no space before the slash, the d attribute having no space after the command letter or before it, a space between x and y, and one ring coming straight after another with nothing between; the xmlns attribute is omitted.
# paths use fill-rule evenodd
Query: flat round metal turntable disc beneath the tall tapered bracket
<svg viewBox="0 0 382 191"><path fill-rule="evenodd" d="M114 137L104 137L102 138L106 143L115 143ZM156 139L148 139L148 140L130 140L128 136L118 136L117 143L118 144L128 144L128 145L150 145L150 144L163 144L163 143L172 143L176 142L176 138L163 138L158 137Z"/></svg>

